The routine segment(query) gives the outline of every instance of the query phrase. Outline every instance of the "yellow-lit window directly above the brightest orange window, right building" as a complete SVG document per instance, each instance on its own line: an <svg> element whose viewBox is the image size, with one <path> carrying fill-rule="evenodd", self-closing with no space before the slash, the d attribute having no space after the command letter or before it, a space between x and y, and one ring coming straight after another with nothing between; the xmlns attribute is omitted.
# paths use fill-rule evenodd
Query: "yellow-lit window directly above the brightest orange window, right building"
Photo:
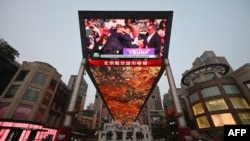
<svg viewBox="0 0 250 141"><path fill-rule="evenodd" d="M225 100L222 98L206 101L206 106L210 112L228 109Z"/></svg>

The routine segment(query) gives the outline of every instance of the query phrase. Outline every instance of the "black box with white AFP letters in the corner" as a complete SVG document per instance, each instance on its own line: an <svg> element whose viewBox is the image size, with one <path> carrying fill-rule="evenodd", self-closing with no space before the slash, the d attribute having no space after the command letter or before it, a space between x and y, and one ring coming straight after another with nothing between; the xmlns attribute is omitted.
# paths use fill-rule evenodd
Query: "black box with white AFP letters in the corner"
<svg viewBox="0 0 250 141"><path fill-rule="evenodd" d="M224 141L229 139L250 140L250 124L248 125L224 125Z"/></svg>

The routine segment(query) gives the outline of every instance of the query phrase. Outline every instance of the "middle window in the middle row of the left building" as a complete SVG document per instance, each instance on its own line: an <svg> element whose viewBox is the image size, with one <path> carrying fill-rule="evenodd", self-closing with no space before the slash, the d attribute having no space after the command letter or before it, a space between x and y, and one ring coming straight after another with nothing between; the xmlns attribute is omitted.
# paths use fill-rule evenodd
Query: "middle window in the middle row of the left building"
<svg viewBox="0 0 250 141"><path fill-rule="evenodd" d="M28 87L22 99L36 101L40 93L40 89Z"/></svg>

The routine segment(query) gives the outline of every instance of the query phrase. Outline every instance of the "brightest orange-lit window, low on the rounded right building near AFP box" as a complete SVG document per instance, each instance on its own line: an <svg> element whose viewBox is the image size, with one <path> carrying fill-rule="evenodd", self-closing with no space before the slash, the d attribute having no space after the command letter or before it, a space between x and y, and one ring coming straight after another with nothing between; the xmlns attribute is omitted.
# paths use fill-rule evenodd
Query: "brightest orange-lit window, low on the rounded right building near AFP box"
<svg viewBox="0 0 250 141"><path fill-rule="evenodd" d="M225 124L234 125L236 124L231 113L223 113L211 115L215 127L224 126Z"/></svg>

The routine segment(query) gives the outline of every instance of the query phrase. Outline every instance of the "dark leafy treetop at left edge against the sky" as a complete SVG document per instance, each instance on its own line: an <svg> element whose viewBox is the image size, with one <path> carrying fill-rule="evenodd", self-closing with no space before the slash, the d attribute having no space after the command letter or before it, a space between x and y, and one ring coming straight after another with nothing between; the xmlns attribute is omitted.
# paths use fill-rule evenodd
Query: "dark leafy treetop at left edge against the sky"
<svg viewBox="0 0 250 141"><path fill-rule="evenodd" d="M4 39L0 38L0 54L5 55L11 61L14 61L16 57L19 57L19 52L11 47Z"/></svg>

